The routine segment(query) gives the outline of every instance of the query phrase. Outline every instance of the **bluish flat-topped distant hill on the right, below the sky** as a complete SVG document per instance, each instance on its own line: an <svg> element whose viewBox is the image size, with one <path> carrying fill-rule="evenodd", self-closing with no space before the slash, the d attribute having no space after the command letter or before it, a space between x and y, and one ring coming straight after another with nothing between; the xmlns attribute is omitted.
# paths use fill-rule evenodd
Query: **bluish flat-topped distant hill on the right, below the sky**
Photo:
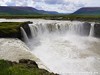
<svg viewBox="0 0 100 75"><path fill-rule="evenodd" d="M76 15L100 15L100 7L84 7L75 11Z"/></svg>

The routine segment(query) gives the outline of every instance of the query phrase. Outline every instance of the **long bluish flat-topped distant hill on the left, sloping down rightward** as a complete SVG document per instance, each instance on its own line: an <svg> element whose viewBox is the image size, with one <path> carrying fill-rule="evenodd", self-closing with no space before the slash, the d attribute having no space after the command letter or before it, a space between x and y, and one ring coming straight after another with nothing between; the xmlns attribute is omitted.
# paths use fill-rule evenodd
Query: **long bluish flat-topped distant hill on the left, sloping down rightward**
<svg viewBox="0 0 100 75"><path fill-rule="evenodd" d="M41 14L58 14L58 12L37 10L33 7L0 6L0 15L41 15Z"/></svg>

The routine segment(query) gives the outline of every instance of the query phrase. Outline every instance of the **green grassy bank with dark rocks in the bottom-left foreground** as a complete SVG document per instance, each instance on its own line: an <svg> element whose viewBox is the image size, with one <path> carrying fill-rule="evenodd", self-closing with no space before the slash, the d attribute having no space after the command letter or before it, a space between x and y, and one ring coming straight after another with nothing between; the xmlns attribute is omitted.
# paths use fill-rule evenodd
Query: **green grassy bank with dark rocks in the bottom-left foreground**
<svg viewBox="0 0 100 75"><path fill-rule="evenodd" d="M0 75L57 75L44 69L39 69L31 60L21 59L19 63L0 60Z"/></svg>

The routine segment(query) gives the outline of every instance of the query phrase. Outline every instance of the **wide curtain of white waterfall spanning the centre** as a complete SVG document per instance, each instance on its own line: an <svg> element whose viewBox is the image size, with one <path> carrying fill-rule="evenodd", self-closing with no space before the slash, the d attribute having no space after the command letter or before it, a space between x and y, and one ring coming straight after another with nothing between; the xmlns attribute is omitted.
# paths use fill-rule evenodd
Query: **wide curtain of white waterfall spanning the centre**
<svg viewBox="0 0 100 75"><path fill-rule="evenodd" d="M45 22L33 23L29 25L32 37L43 34L76 34L84 35L82 22Z"/></svg>

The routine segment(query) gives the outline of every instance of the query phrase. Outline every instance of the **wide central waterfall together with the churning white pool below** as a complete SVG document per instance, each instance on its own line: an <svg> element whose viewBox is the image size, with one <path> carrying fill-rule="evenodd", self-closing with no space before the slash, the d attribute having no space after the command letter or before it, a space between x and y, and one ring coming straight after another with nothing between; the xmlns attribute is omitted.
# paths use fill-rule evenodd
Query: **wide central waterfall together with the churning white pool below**
<svg viewBox="0 0 100 75"><path fill-rule="evenodd" d="M30 29L32 53L50 71L61 75L100 75L100 40L84 36L83 22L35 20ZM92 27L90 32L92 36Z"/></svg>

